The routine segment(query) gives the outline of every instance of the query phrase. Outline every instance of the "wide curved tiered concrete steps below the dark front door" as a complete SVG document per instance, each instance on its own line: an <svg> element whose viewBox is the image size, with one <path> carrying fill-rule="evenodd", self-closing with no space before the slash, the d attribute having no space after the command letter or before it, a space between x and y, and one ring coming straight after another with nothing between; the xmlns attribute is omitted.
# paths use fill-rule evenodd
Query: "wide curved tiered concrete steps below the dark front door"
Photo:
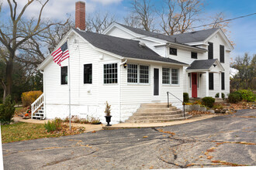
<svg viewBox="0 0 256 170"><path fill-rule="evenodd" d="M131 116L126 123L160 123L167 121L176 121L191 117L183 111L173 107L167 107L167 103L141 104L136 113Z"/></svg>

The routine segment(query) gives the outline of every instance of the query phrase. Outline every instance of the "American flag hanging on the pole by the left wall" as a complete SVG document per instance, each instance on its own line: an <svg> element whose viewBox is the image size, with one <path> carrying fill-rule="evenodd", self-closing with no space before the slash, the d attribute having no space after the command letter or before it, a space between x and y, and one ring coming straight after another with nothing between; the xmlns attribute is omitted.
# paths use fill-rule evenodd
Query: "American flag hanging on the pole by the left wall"
<svg viewBox="0 0 256 170"><path fill-rule="evenodd" d="M59 49L51 54L54 57L54 62L61 66L61 62L69 57L67 42L65 42Z"/></svg>

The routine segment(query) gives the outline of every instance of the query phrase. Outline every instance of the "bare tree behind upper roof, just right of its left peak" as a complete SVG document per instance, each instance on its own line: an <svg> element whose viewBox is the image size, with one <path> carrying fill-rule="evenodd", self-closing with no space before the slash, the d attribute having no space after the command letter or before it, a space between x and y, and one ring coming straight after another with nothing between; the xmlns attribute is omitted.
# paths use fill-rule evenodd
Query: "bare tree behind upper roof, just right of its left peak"
<svg viewBox="0 0 256 170"><path fill-rule="evenodd" d="M151 0L133 0L131 13L124 18L127 26L154 32L155 9Z"/></svg>

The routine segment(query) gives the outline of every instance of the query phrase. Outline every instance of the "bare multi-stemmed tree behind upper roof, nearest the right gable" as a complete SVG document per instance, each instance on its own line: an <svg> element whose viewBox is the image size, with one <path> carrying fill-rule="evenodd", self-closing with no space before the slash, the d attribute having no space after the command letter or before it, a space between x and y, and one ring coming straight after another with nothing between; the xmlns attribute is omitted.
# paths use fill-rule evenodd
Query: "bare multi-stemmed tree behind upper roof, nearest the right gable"
<svg viewBox="0 0 256 170"><path fill-rule="evenodd" d="M202 0L167 0L162 8L161 28L167 35L184 33L195 21L199 21Z"/></svg>

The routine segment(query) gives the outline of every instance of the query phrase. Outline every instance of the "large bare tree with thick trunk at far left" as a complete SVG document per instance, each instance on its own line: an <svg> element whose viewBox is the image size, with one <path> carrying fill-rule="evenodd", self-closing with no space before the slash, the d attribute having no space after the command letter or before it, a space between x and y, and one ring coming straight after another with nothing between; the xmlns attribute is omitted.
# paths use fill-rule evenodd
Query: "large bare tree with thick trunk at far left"
<svg viewBox="0 0 256 170"><path fill-rule="evenodd" d="M45 2L38 1L42 5L39 14L36 19L24 19L23 15L26 9L36 0L28 0L26 5L24 5L21 11L18 13L17 6L18 2L16 0L6 0L9 5L10 12L10 23L9 26L2 24L0 26L0 42L8 50L9 55L5 56L6 70L5 70L5 97L12 93L12 73L13 73L13 63L16 59L16 50L19 49L24 42L31 39L33 36L40 34L44 30L50 28L54 25L62 25L61 22L49 23L47 26L41 25L42 23L42 12L45 5L49 0Z"/></svg>

